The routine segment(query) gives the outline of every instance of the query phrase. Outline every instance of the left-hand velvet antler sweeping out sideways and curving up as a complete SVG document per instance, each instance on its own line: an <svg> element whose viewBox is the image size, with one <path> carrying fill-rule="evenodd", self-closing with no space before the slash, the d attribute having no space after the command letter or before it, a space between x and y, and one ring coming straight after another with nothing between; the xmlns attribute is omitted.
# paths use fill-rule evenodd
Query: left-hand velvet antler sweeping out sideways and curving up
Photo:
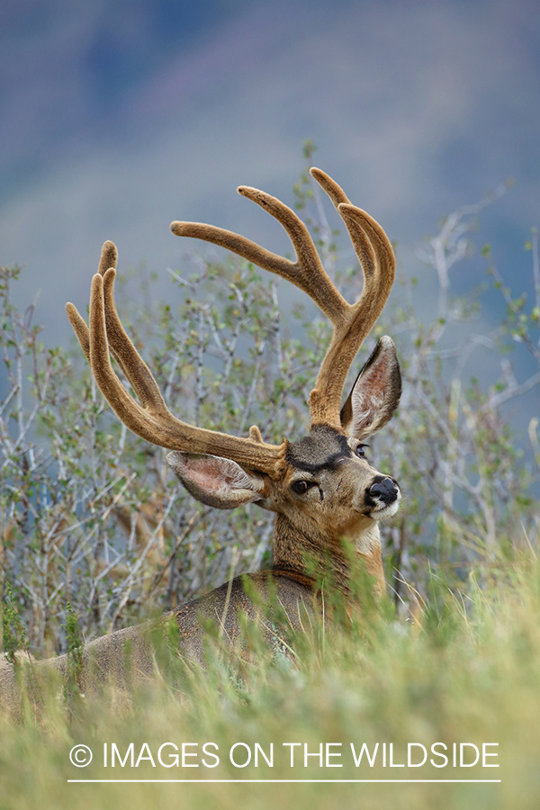
<svg viewBox="0 0 540 810"><path fill-rule="evenodd" d="M249 438L195 428L176 419L166 408L148 365L121 326L114 305L115 275L114 268L109 268L103 276L97 273L92 279L89 329L73 304L67 304L67 312L83 348L88 341L87 356L95 382L124 425L157 446L192 454L220 455L248 469L278 477L284 464L285 442L268 445L262 441L257 428L251 428ZM144 404L130 396L115 374L109 355L112 347Z"/></svg>

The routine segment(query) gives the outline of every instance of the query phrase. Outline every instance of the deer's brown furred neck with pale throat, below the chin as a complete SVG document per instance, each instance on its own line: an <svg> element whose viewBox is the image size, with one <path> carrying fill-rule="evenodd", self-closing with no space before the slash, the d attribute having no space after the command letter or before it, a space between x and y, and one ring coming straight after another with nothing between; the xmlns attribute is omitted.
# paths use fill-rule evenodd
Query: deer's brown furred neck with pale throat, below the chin
<svg viewBox="0 0 540 810"><path fill-rule="evenodd" d="M356 549L365 572L374 579L374 595L382 596L385 581L378 524L372 521L346 536L329 538L316 528L302 531L283 514L275 518L274 571L311 588L317 587L321 572L329 572L334 587L347 596L350 594L351 546Z"/></svg>

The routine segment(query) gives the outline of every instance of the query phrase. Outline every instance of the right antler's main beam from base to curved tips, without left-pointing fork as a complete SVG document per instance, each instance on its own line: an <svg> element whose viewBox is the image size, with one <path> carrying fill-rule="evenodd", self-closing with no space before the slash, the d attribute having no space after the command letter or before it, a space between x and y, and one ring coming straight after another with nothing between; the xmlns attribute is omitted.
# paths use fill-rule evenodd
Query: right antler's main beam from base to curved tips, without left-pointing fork
<svg viewBox="0 0 540 810"><path fill-rule="evenodd" d="M395 277L392 245L379 223L352 205L343 189L318 168L311 176L328 193L344 220L364 272L364 289L355 304L347 303L340 322L334 323L334 336L320 366L310 395L311 424L325 422L341 426L341 393L358 349L383 311Z"/></svg>

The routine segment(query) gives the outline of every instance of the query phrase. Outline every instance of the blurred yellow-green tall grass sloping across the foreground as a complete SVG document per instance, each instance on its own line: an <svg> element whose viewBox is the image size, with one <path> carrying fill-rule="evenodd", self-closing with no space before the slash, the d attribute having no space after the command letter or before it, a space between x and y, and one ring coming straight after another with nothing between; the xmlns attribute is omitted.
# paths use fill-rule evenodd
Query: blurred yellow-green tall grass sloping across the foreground
<svg viewBox="0 0 540 810"><path fill-rule="evenodd" d="M293 642L294 654L263 647L241 667L209 655L208 670L170 671L127 700L113 691L80 698L67 709L54 696L39 718L23 725L0 720L0 806L3 808L130 806L185 807L366 807L366 808L536 808L540 795L540 565L533 554L500 560L482 587L471 574L466 592L450 591L432 576L430 595L414 621L400 621L388 609L369 612L361 624L322 626ZM238 664L238 662L237 662ZM74 745L94 752L86 768L69 761ZM108 765L103 765L107 743ZM125 760L112 767L112 743ZM147 743L148 747L144 746ZM166 768L158 761L163 743L175 743L186 763ZM198 743L198 746L193 744ZM204 743L214 743L202 751ZM229 761L233 750L237 765ZM256 743L258 763L255 765ZM274 761L270 767L261 751ZM283 743L302 743L291 747ZM320 752L323 761L308 752ZM326 743L329 761L326 762ZM341 743L340 745L338 743ZM356 753L366 743L371 767ZM383 767L383 743L387 764ZM446 743L450 764L407 765L408 743L430 751ZM486 760L499 768L453 767L453 743L473 743L497 753ZM493 745L492 743L498 743ZM438 752L443 749L439 747ZM459 750L459 748L458 748ZM466 761L474 750L465 749ZM166 764L172 746L162 749ZM422 750L411 749L413 762ZM189 754L196 754L189 756ZM203 760L217 767L205 767ZM341 756L331 756L331 754ZM152 766L149 756L155 761ZM430 755L437 763L442 758ZM146 758L146 759L145 759ZM187 767L198 764L198 768ZM343 767L331 767L341 764ZM71 783L71 779L197 779L201 783ZM253 779L270 782L254 783ZM304 780L329 780L304 781ZM383 783L344 783L380 779ZM451 783L392 780L446 779ZM499 782L457 782L499 779ZM221 781L221 780L235 780ZM238 780L238 781L237 781ZM244 781L242 781L244 780ZM279 780L302 780L302 783Z"/></svg>

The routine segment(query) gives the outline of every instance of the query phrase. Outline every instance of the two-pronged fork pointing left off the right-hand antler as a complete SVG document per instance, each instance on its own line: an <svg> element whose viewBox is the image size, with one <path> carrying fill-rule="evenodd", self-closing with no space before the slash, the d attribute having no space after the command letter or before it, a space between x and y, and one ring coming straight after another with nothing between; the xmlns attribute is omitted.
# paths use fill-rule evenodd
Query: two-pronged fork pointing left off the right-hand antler
<svg viewBox="0 0 540 810"><path fill-rule="evenodd" d="M202 222L172 222L175 236L203 239L220 247L227 247L248 262L269 270L275 275L292 282L320 307L320 310L334 323L347 310L347 302L329 279L320 262L317 248L302 220L284 202L257 188L240 185L238 193L248 200L257 202L261 208L280 222L289 234L296 252L296 261L278 256L260 247L251 239L240 236L231 230L216 228Z"/></svg>

